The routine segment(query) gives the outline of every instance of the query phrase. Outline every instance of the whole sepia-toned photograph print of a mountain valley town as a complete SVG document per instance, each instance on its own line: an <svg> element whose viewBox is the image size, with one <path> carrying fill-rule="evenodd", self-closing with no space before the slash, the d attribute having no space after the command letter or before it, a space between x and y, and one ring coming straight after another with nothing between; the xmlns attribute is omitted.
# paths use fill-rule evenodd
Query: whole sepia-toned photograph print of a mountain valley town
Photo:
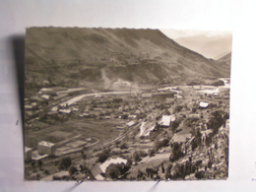
<svg viewBox="0 0 256 192"><path fill-rule="evenodd" d="M227 179L232 33L31 27L25 180Z"/></svg>

